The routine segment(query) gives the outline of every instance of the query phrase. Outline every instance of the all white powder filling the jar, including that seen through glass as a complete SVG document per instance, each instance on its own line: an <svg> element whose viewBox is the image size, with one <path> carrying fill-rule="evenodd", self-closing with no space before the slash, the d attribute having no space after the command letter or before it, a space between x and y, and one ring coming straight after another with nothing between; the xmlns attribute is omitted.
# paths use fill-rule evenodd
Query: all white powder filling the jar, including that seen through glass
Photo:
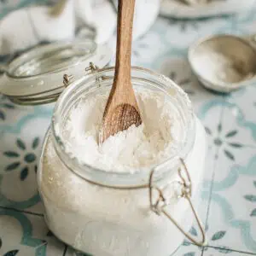
<svg viewBox="0 0 256 256"><path fill-rule="evenodd" d="M183 108L175 104L175 91L171 93L172 101L164 93L137 91L143 125L110 138L102 148L96 141L108 95L79 99L63 117L65 125L59 127L59 132L69 153L91 166L115 172L148 168L172 154L177 156L188 132L183 119L189 109L185 104ZM204 128L195 121L195 143L185 159L193 189L201 182L206 152ZM54 140L49 132L38 166L38 190L49 229L61 241L81 252L102 256L170 255L183 241L183 234L168 218L151 211L148 188L112 189L86 181L67 168L55 150ZM172 217L189 230L194 218L188 212L188 202L178 199L172 190L172 181L177 181L177 172L172 170L170 176L161 179L161 189L168 197ZM112 172L106 175L114 178ZM127 175L127 179L132 176ZM98 182L96 176L92 178Z"/></svg>

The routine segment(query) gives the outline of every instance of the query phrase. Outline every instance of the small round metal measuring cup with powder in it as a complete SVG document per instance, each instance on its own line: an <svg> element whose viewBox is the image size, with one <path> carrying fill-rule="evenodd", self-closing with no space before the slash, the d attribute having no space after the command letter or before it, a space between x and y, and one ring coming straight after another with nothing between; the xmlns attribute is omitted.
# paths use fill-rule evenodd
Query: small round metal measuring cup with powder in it
<svg viewBox="0 0 256 256"><path fill-rule="evenodd" d="M217 35L189 47L189 65L207 89L228 93L251 84L256 49L244 38Z"/></svg>

